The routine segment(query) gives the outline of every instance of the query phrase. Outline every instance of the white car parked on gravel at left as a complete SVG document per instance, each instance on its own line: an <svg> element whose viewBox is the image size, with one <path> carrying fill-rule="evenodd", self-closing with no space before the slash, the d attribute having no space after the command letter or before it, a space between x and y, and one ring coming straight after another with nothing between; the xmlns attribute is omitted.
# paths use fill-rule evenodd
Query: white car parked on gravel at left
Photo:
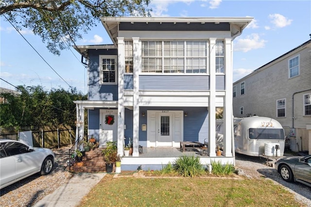
<svg viewBox="0 0 311 207"><path fill-rule="evenodd" d="M35 173L51 173L54 158L50 149L0 139L0 189Z"/></svg>

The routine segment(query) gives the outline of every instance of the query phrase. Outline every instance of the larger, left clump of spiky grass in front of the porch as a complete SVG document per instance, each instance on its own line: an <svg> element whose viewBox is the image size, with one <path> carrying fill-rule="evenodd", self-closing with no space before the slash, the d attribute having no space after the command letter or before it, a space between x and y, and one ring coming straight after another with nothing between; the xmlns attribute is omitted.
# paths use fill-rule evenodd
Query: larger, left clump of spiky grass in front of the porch
<svg viewBox="0 0 311 207"><path fill-rule="evenodd" d="M200 163L200 158L195 156L181 156L174 161L174 169L184 177L194 177L205 173L205 168Z"/></svg>

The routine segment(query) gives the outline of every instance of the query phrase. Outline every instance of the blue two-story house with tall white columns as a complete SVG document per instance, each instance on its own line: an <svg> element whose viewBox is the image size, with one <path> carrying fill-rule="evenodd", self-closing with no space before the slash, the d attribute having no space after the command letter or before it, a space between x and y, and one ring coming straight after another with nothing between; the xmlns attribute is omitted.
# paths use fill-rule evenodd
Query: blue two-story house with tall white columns
<svg viewBox="0 0 311 207"><path fill-rule="evenodd" d="M224 107L223 157L233 162L232 42L252 19L102 17L113 44L75 48L88 61L88 100L74 102L76 138L83 137L88 109L88 134L100 146L117 141L119 155L129 138L133 157L139 145L208 139L208 156L215 157L215 112Z"/></svg>

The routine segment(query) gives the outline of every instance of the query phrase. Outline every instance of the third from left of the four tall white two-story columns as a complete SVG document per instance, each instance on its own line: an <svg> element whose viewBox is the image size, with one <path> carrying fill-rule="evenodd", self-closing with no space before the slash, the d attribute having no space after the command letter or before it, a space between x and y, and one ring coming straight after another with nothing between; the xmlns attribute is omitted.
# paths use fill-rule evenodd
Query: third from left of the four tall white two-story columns
<svg viewBox="0 0 311 207"><path fill-rule="evenodd" d="M216 38L209 38L208 155L216 156Z"/></svg>

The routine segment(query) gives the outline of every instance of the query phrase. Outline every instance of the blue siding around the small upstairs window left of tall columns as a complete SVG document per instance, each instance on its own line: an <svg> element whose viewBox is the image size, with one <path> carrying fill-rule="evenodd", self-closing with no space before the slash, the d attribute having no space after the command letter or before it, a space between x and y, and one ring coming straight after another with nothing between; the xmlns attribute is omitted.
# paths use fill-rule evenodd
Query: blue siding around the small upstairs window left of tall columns
<svg viewBox="0 0 311 207"><path fill-rule="evenodd" d="M99 55L118 55L117 49L89 50L88 100L118 101L118 85L99 84Z"/></svg>

